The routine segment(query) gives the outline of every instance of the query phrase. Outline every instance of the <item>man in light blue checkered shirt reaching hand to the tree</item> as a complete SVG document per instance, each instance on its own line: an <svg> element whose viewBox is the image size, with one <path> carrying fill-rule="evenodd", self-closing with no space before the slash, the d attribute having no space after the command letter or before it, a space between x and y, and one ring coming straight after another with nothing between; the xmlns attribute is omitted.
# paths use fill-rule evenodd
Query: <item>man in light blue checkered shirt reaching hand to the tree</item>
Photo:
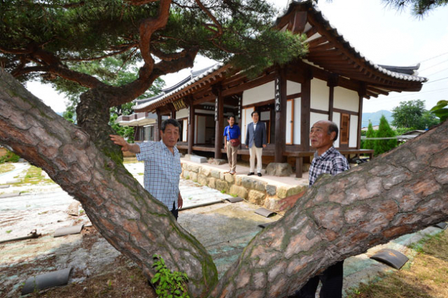
<svg viewBox="0 0 448 298"><path fill-rule="evenodd" d="M162 140L155 142L130 144L121 136L111 135L111 140L121 150L137 154L137 160L145 162L145 189L161 201L174 218L178 218L183 200L179 192L179 180L182 172L179 150L176 148L181 125L175 119L168 119L160 125Z"/></svg>

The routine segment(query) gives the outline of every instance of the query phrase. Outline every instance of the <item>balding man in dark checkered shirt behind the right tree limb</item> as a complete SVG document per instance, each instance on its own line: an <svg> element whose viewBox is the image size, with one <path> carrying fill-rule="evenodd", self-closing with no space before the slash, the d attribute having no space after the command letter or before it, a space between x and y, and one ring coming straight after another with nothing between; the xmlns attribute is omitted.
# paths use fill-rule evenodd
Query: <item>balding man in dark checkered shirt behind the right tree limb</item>
<svg viewBox="0 0 448 298"><path fill-rule="evenodd" d="M316 182L318 176L330 173L335 176L350 168L347 159L333 147L337 139L337 125L331 121L318 121L311 127L309 140L311 147L316 149L314 159L309 167L309 187ZM305 192L305 191L304 191ZM281 209L292 207L304 192L287 197L280 202ZM341 298L344 261L328 267L322 274L314 276L290 298L314 298L319 280L322 282L321 298Z"/></svg>

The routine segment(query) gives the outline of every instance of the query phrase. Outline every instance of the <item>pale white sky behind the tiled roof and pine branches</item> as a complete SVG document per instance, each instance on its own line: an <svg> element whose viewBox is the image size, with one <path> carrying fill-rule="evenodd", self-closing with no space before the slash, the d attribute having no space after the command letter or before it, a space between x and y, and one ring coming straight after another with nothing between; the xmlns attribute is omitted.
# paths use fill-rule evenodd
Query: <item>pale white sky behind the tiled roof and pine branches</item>
<svg viewBox="0 0 448 298"><path fill-rule="evenodd" d="M268 0L286 8L288 0ZM419 76L428 78L420 92L391 92L387 97L364 99L363 112L391 111L400 101L421 99L430 109L437 101L448 99L448 6L437 8L419 19L409 10L386 8L381 0L318 1L318 7L339 34L375 64L414 66L420 64ZM199 57L193 69L214 64ZM183 69L162 77L166 87L189 75ZM57 113L65 110L66 100L49 85L27 83L27 88Z"/></svg>

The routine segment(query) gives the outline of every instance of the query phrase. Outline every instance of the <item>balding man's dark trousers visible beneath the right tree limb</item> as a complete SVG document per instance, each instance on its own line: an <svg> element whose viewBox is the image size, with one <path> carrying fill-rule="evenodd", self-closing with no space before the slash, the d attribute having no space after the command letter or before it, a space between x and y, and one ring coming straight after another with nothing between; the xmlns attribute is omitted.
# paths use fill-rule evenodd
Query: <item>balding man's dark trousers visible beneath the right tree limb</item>
<svg viewBox="0 0 448 298"><path fill-rule="evenodd" d="M322 274L314 276L289 298L314 298L319 280L322 282L321 298L342 298L342 280L344 261L328 267Z"/></svg>

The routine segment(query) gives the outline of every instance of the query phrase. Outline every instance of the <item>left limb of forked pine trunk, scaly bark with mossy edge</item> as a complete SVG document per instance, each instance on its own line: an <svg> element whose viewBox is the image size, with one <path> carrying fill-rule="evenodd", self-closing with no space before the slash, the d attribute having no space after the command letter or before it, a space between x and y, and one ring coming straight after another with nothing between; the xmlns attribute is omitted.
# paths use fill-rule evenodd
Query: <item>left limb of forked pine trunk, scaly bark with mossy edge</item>
<svg viewBox="0 0 448 298"><path fill-rule="evenodd" d="M102 109L94 101L84 102L82 108ZM94 113L83 115L85 127L94 122ZM188 274L190 295L206 295L217 282L207 250L125 169L117 146L104 141L109 136L98 137L103 140L101 150L83 129L56 115L0 70L0 143L41 167L80 201L104 238L147 276L153 276L153 254L158 254L167 267Z"/></svg>

